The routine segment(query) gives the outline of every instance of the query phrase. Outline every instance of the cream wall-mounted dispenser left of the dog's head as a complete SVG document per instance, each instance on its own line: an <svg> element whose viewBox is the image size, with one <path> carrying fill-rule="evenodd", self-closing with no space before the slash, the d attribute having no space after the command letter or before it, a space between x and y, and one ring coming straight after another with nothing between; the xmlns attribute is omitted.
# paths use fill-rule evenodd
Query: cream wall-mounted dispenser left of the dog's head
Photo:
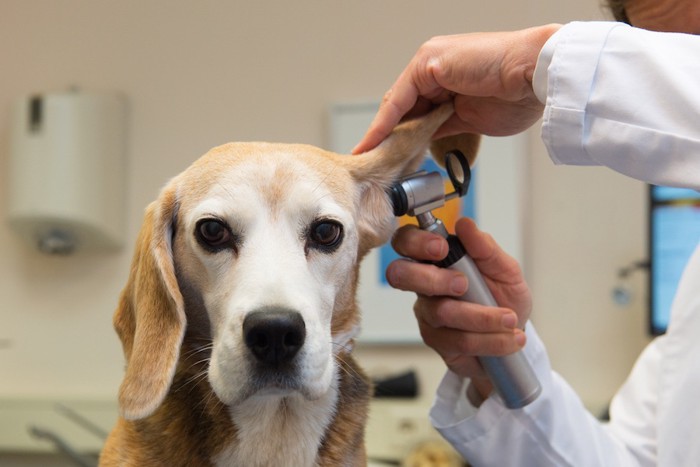
<svg viewBox="0 0 700 467"><path fill-rule="evenodd" d="M16 102L8 221L41 251L109 250L124 236L126 106L68 91Z"/></svg>

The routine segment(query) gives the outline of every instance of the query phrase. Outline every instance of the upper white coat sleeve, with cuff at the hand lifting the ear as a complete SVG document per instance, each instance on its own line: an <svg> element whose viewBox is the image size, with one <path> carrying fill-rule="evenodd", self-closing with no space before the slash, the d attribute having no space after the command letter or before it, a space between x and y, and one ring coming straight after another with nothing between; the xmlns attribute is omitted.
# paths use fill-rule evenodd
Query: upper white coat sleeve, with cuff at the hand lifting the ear
<svg viewBox="0 0 700 467"><path fill-rule="evenodd" d="M533 87L555 163L607 166L700 189L700 37L570 23L540 54Z"/></svg>

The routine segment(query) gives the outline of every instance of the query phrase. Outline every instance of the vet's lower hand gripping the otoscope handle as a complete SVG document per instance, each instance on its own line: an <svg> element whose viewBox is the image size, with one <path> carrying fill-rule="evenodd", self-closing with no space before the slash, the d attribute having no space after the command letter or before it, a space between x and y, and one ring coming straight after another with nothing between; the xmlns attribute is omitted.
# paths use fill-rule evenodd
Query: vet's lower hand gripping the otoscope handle
<svg viewBox="0 0 700 467"><path fill-rule="evenodd" d="M471 219L460 219L455 233L499 308L456 300L468 284L464 275L451 269L399 259L389 265L387 279L392 287L418 294L414 312L423 340L450 370L471 378L486 398L492 386L475 357L508 355L525 345L521 328L530 316L532 297L517 261ZM399 229L392 245L400 255L416 260L435 261L447 255L447 242L442 237L415 226Z"/></svg>

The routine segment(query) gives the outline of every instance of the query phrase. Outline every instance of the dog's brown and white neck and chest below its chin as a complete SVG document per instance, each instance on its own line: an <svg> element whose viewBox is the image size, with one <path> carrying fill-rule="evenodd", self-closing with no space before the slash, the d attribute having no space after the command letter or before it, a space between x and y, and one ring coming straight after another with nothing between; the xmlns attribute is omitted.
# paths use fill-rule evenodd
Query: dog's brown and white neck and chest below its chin
<svg viewBox="0 0 700 467"><path fill-rule="evenodd" d="M102 458L105 465L366 465L369 380L349 353L336 362L332 389L320 399L259 396L236 409L214 395L199 365L183 363L153 415L119 420Z"/></svg>

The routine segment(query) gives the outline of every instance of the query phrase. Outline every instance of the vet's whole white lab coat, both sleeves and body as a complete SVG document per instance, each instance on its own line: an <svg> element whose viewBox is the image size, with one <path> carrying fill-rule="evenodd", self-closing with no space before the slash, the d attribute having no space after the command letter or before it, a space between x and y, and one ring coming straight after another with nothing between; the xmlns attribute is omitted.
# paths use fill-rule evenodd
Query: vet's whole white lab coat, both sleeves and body
<svg viewBox="0 0 700 467"><path fill-rule="evenodd" d="M619 23L571 23L545 45L534 78L542 137L556 163L603 165L647 182L700 189L700 37ZM600 423L552 371L534 327L524 353L543 392L524 409L498 397L477 410L448 372L434 426L475 466L700 465L700 248L671 323L639 357Z"/></svg>

